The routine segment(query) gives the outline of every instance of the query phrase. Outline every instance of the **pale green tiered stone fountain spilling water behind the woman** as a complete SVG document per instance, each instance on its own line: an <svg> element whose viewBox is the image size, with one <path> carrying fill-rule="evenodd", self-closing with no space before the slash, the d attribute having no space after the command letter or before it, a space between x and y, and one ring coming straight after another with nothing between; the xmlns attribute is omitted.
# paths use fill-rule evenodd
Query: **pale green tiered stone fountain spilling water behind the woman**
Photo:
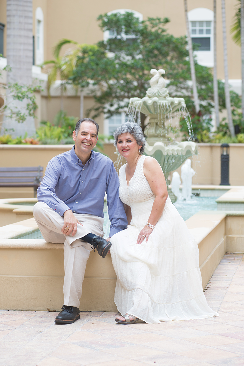
<svg viewBox="0 0 244 366"><path fill-rule="evenodd" d="M169 185L168 175L171 171L180 167L182 163L190 156L197 154L195 142L171 141L171 122L172 117L185 117L188 124L189 135L192 135L191 117L186 109L184 98L171 98L169 90L165 87L166 81L162 74L163 69L151 70L153 77L149 81L150 86L144 98L130 98L128 113L133 121L137 122L137 115L140 119L140 112L149 116L144 134L147 137L145 146L145 155L153 156L163 169L167 186ZM177 197L169 190L169 196L172 202Z"/></svg>

